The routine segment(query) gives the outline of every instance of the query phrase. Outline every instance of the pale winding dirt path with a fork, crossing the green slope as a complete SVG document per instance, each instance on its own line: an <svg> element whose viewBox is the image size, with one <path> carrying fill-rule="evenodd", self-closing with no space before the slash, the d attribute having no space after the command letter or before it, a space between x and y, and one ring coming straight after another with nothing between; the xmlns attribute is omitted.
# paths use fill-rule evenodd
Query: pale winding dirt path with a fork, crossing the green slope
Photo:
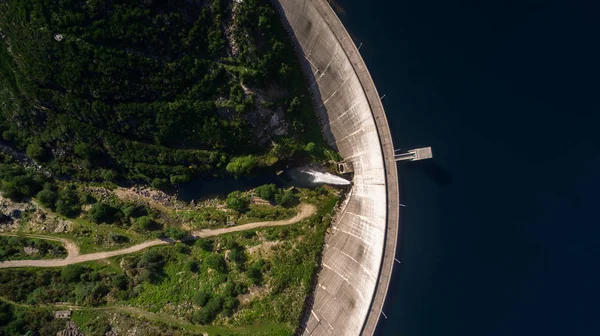
<svg viewBox="0 0 600 336"><path fill-rule="evenodd" d="M317 207L308 204L302 203L298 205L298 214L290 219L284 219L280 221L268 221L268 222L255 222L248 223L244 225L222 228L222 229L214 229L214 230L202 230L202 231L194 231L192 232L191 239L205 238L205 237L213 237L231 232L245 231L251 229L257 229L261 227L269 227L269 226L282 226L282 225L290 225L298 223L299 221L312 216L315 212L317 212ZM19 236L16 234L0 234L4 236ZM30 238L39 238L39 239L47 239L59 241L64 244L67 249L68 255L65 259L45 259L45 260L10 260L0 262L0 268L15 268L15 267L63 267L72 264L78 264L86 261L95 261L101 260L111 257L116 257L119 255L130 254L139 252L141 250L147 249L152 246L164 245L168 243L174 242L171 239L154 239L149 240L147 242L143 242L138 245L134 245L128 248L124 248L116 251L107 251L107 252L98 252L98 253L89 253L89 254L79 254L79 248L77 245L68 239L64 238L56 238L51 236L42 236L42 235L21 235L21 237L30 237Z"/></svg>

